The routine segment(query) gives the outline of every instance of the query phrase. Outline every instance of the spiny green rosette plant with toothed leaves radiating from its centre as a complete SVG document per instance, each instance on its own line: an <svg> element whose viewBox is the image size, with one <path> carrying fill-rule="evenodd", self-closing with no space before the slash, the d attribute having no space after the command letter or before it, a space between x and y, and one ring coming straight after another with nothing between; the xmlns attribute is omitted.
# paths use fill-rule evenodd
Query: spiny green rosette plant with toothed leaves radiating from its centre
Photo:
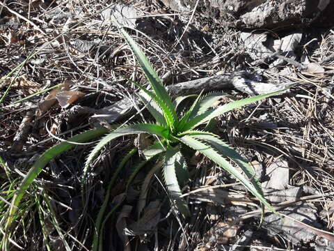
<svg viewBox="0 0 334 251"><path fill-rule="evenodd" d="M182 146L188 146L202 153L202 155L205 155L215 162L216 165L225 169L257 197L262 205L274 211L272 206L264 199L260 182L255 176L255 171L248 165L246 160L244 160L237 151L223 142L218 135L198 128L208 123L216 116L220 116L225 112L248 105L252 102L262 100L263 98L277 95L281 91L237 100L216 108L213 108L212 105L221 98L221 96L216 93L211 93L206 96L200 94L186 112L177 112L179 110L177 106L180 105L180 102L178 102L180 98L177 100L170 98L161 79L138 45L136 45L134 40L132 40L124 29L120 28L120 32L122 36L124 36L134 56L136 56L150 84L149 90L140 84L134 83L141 89L141 98L156 123L135 123L122 126L109 132L109 134L100 140L93 151L91 151L86 161L85 170L88 169L90 163L93 162L104 146L111 142L111 140L126 135L146 133L156 136L157 140L152 146L143 151L143 155L147 159L152 158L154 155L163 155L164 164L161 168L164 182L171 201L175 203L183 215L189 215L189 209L186 205L186 201L181 197L182 192L177 181L177 170L180 170L180 165L183 165L181 169L186 169L186 162L184 161L184 156L181 151ZM184 111L184 109L181 109L181 111ZM236 167L240 167L244 174L237 171Z"/></svg>

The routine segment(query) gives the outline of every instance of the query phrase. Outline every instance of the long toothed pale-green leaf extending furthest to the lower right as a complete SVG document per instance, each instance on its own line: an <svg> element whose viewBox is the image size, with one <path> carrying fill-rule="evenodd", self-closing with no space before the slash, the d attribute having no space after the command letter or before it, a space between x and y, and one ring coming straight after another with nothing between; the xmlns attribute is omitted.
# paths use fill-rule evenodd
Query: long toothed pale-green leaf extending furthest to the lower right
<svg viewBox="0 0 334 251"><path fill-rule="evenodd" d="M232 174L237 180L239 180L257 199L260 200L262 204L267 206L271 211L275 212L275 209L264 199L264 197L261 195L260 192L257 191L257 189L253 186L248 179L246 179L242 174L237 172L237 170L230 165L230 163L225 160L219 153L217 153L216 149L214 149L212 146L208 146L207 144L204 144L200 142L200 140L195 139L192 136L184 135L183 137L177 138L180 140L180 142L190 146L191 148L195 149L196 151L199 151L203 155L207 156L210 160L215 162L217 165L225 169L227 172Z"/></svg>

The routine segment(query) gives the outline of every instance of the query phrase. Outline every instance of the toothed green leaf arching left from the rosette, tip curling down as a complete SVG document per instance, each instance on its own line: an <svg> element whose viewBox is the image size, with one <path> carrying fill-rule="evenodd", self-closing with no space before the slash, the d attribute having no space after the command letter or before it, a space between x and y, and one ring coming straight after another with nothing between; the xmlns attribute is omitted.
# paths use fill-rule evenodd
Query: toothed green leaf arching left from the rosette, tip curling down
<svg viewBox="0 0 334 251"><path fill-rule="evenodd" d="M108 135L104 136L100 142L94 147L93 151L88 155L86 165L84 167L84 178L86 178L86 174L88 172L88 167L91 162L93 162L94 158L102 148L111 142L111 140L116 139L118 137L122 137L125 135L133 135L138 133L149 133L152 135L158 135L160 137L168 137L168 130L163 126L149 124L149 123L140 123L131 126L125 126L110 132Z"/></svg>

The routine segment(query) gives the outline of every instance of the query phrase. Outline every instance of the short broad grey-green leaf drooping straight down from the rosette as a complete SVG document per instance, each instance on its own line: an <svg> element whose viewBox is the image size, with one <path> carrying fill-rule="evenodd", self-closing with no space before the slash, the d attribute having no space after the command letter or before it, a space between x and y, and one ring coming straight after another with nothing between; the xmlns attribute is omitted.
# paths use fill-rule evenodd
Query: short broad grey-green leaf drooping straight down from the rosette
<svg viewBox="0 0 334 251"><path fill-rule="evenodd" d="M175 162L180 155L178 147L167 147L165 161L164 161L164 180L167 186L167 190L170 193L170 198L175 201L177 208L185 216L190 216L189 208L186 201L181 197L182 192L180 190L179 183L177 181L175 173Z"/></svg>

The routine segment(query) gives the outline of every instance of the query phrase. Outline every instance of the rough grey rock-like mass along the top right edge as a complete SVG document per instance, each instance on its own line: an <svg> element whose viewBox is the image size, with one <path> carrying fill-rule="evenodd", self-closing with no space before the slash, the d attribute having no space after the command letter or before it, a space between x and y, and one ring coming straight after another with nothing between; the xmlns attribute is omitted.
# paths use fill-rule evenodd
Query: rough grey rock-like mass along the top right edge
<svg viewBox="0 0 334 251"><path fill-rule="evenodd" d="M193 0L163 0L177 11L192 10ZM290 29L305 26L331 27L334 1L329 0L200 0L198 12L223 26Z"/></svg>

